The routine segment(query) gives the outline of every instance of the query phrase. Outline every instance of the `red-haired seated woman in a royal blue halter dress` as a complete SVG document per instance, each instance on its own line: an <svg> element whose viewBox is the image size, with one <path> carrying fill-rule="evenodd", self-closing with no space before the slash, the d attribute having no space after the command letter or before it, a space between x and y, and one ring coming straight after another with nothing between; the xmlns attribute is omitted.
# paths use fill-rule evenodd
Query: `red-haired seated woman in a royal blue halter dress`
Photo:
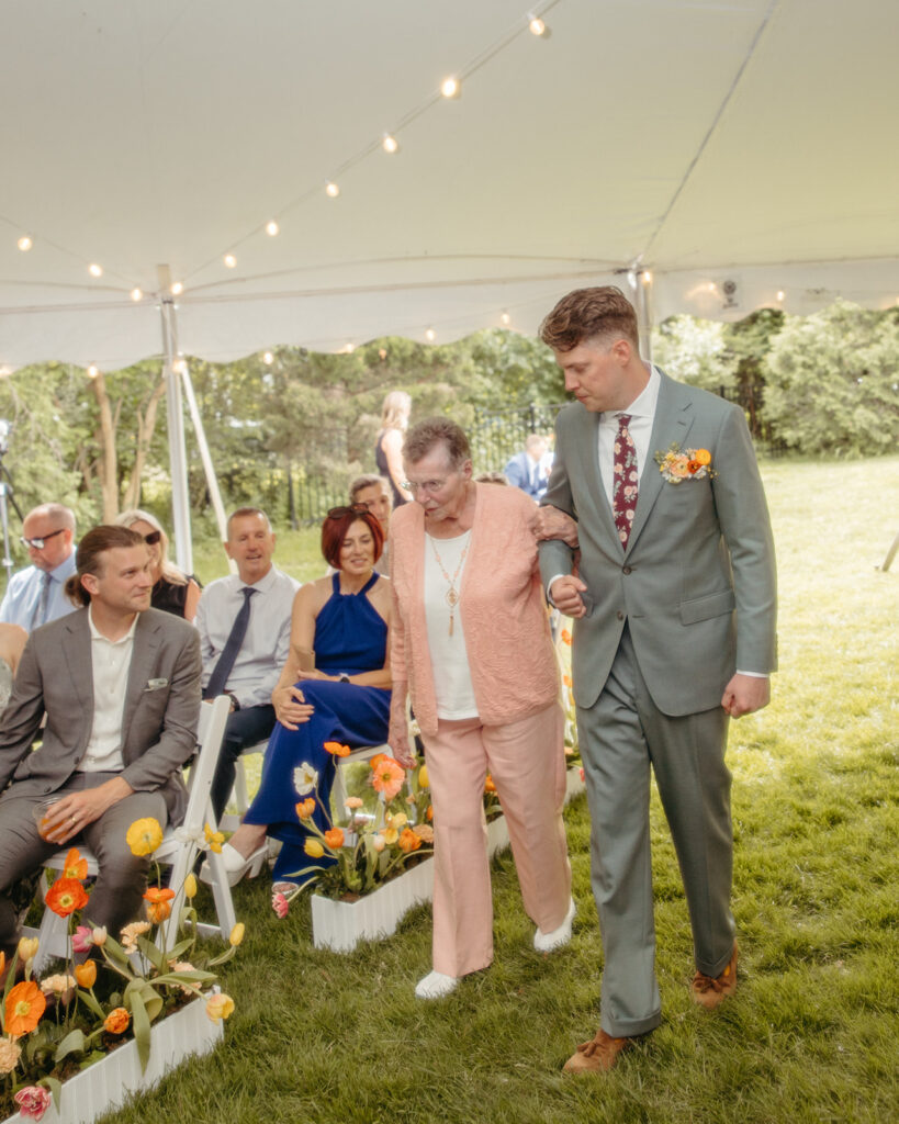
<svg viewBox="0 0 899 1124"><path fill-rule="evenodd" d="M360 749L387 741L391 599L388 580L374 571L383 545L380 523L358 504L332 508L321 526L321 553L336 572L302 586L293 599L290 655L272 692L278 724L260 790L223 847L229 881L257 861L266 835L283 843L275 881L299 881L310 860L296 809L316 795L316 774L314 818L323 830L330 826L323 806L329 808L335 760L325 742Z"/></svg>

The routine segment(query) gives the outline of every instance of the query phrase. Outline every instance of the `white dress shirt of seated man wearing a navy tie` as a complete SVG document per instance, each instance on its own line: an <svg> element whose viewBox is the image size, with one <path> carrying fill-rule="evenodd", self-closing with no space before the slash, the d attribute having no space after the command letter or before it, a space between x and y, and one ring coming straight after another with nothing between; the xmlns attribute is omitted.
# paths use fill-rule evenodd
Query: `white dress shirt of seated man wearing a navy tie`
<svg viewBox="0 0 899 1124"><path fill-rule="evenodd" d="M235 617L244 604L245 582L228 574L210 582L200 596L194 624L200 633L203 661L202 685L209 682L218 658L230 635ZM300 583L276 566L253 587L249 623L228 676L225 690L234 695L240 709L267 706L290 652L290 611Z"/></svg>

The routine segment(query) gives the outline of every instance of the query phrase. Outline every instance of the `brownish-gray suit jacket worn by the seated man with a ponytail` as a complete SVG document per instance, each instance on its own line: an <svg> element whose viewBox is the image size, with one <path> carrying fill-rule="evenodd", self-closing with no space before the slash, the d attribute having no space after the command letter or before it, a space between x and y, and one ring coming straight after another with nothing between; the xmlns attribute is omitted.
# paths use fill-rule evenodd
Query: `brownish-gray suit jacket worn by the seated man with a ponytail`
<svg viewBox="0 0 899 1124"><path fill-rule="evenodd" d="M135 791L161 790L170 823L187 807L181 765L196 746L200 672L197 629L170 613L142 613L121 723L121 776ZM31 752L44 714L42 745ZM92 725L91 637L88 610L79 609L28 637L0 722L0 791L11 781L8 796L55 792L84 756Z"/></svg>

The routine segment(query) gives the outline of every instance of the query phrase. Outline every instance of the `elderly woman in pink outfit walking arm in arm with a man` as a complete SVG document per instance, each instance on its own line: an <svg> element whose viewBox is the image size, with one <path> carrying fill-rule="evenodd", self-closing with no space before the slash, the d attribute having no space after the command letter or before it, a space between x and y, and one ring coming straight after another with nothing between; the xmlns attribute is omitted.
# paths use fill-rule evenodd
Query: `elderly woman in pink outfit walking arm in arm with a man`
<svg viewBox="0 0 899 1124"><path fill-rule="evenodd" d="M534 502L515 488L475 483L465 434L447 418L408 433L403 464L416 502L394 511L390 531L389 740L410 765L409 695L434 803L434 970L416 987L432 999L493 959L488 772L538 951L571 940L574 903L559 671L530 531Z"/></svg>

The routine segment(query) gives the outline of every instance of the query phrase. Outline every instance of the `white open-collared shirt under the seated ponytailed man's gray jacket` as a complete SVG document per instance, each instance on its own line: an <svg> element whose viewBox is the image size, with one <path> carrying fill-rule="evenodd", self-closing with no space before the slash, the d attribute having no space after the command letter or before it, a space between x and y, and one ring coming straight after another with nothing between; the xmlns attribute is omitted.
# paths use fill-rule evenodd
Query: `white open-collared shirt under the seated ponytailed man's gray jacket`
<svg viewBox="0 0 899 1124"><path fill-rule="evenodd" d="M125 689L134 653L131 627L119 640L107 640L93 623L92 607L88 606L88 626L91 631L91 672L93 674L93 725L88 749L78 764L76 772L121 772L125 759L121 753L121 718L125 713Z"/></svg>

